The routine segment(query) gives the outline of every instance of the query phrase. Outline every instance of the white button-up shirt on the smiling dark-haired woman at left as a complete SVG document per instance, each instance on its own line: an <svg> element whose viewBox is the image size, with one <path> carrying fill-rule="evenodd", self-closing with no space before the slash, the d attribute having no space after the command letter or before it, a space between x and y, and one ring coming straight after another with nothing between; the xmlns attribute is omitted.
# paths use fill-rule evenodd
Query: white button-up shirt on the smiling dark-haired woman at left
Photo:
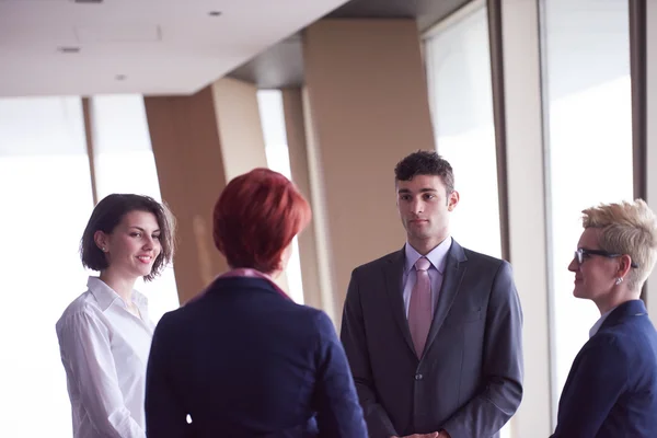
<svg viewBox="0 0 657 438"><path fill-rule="evenodd" d="M141 318L97 277L57 321L74 438L145 438L146 367L154 325L147 299L132 291Z"/></svg>

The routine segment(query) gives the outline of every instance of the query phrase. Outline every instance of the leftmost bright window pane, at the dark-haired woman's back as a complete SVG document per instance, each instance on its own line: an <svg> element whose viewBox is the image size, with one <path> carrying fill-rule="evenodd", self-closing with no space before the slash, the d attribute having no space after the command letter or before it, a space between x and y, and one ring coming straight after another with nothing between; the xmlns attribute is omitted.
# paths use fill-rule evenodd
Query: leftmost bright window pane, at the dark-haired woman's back
<svg viewBox="0 0 657 438"><path fill-rule="evenodd" d="M2 436L68 438L55 323L87 290L78 249L93 208L79 97L0 99Z"/></svg>

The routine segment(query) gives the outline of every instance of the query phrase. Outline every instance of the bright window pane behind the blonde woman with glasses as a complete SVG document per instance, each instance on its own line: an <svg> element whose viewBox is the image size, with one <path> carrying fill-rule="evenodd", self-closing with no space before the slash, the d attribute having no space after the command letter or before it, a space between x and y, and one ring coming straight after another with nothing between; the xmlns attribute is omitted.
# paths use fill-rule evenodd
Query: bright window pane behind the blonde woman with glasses
<svg viewBox="0 0 657 438"><path fill-rule="evenodd" d="M557 396L600 316L592 302L572 295L567 266L583 231L580 211L633 196L627 8L622 0L543 2Z"/></svg>

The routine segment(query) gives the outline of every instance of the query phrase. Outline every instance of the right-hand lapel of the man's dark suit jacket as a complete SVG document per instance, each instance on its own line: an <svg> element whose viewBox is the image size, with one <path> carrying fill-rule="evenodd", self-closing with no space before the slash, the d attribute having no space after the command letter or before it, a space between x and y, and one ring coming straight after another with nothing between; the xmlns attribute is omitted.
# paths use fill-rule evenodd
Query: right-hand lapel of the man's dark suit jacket
<svg viewBox="0 0 657 438"><path fill-rule="evenodd" d="M427 344L425 347L425 354L429 350L431 343L436 338L436 335L440 331L449 310L454 302L454 298L461 287L463 275L465 274L465 263L468 258L463 252L463 247L452 240L451 247L447 254L447 263L445 265L445 273L442 277L442 286L440 287L440 293L438 295L438 303L436 304L436 311L434 312L434 321L429 328L429 336L427 337ZM424 357L424 355L423 355Z"/></svg>

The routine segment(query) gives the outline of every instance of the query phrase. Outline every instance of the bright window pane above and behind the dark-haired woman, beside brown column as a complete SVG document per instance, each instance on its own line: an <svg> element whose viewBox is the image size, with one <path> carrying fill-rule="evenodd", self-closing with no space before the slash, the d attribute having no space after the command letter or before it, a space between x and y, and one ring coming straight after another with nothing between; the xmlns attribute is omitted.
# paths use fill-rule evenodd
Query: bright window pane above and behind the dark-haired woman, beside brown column
<svg viewBox="0 0 657 438"><path fill-rule="evenodd" d="M99 199L112 193L148 195L162 201L155 160L148 131L143 97L139 94L91 99L94 170ZM135 288L149 300L153 322L178 307L173 266L153 281Z"/></svg>

